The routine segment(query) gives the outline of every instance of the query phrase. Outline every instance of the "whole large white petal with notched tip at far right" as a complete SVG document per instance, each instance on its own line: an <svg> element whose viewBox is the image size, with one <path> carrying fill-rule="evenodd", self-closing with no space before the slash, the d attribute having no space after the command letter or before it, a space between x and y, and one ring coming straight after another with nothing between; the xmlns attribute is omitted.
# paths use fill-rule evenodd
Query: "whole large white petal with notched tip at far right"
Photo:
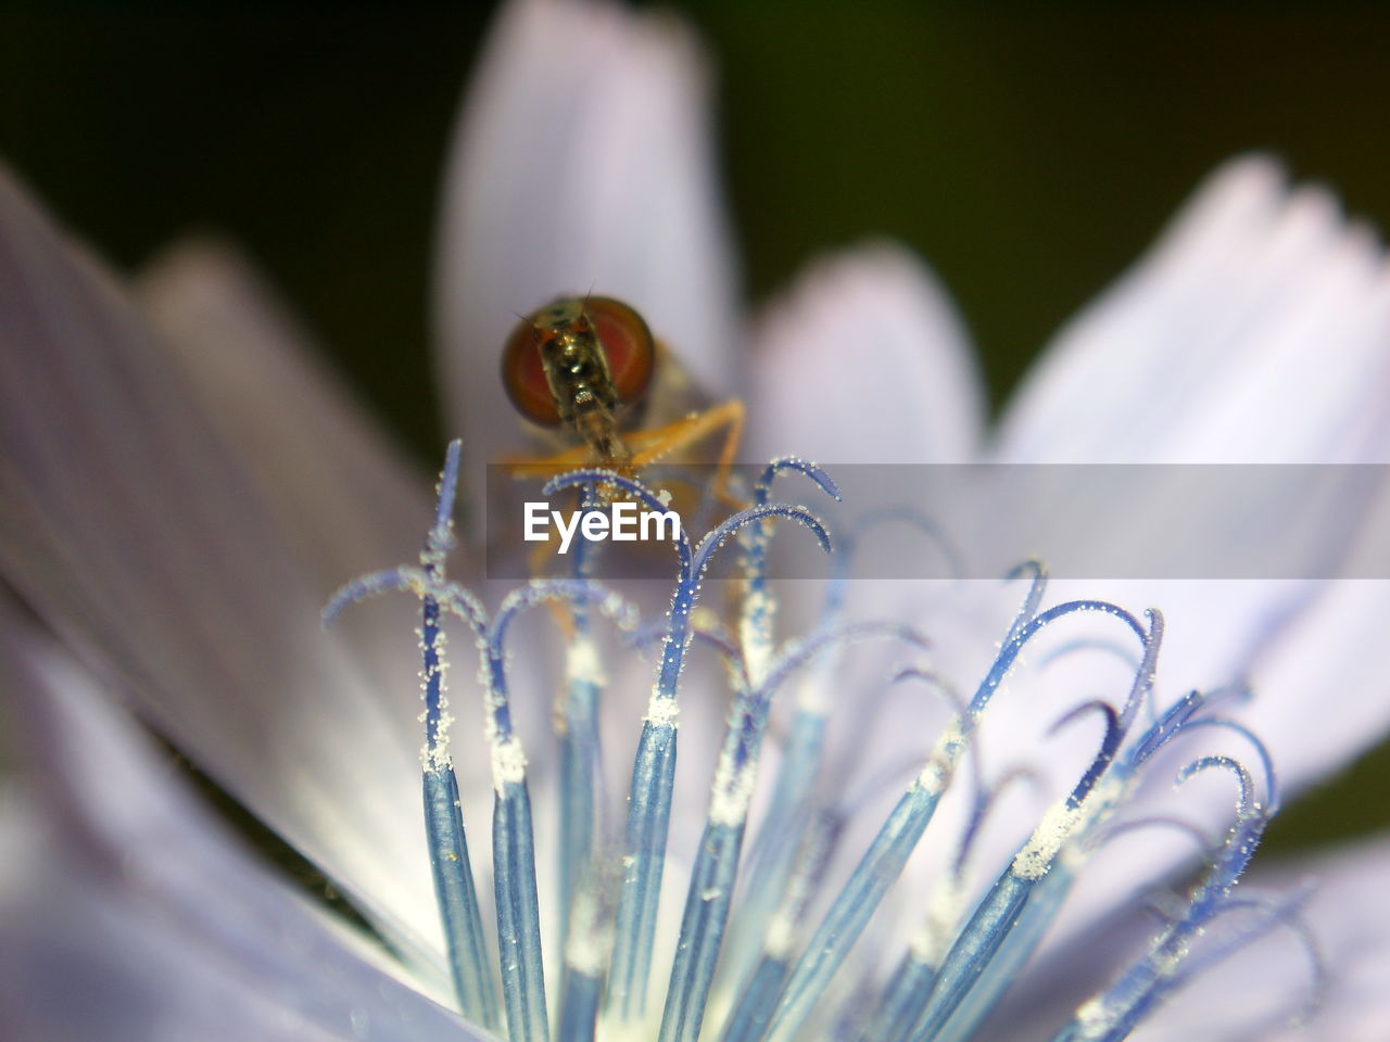
<svg viewBox="0 0 1390 1042"><path fill-rule="evenodd" d="M1161 242L1059 333L1009 406L994 458L1008 463L1383 463L1390 458L1390 267L1316 188L1290 190L1264 158L1227 164ZM1034 468L1042 471L1049 468ZM1065 472L1065 471L1063 471ZM1073 471L1076 472L1076 471ZM1084 468L1081 468L1084 472ZM1047 475L1044 474L1044 478ZM1294 574L1330 577L1358 540L1379 538L1384 482L1357 495L1248 503L1212 515L1155 471L1111 531L1134 546L1194 529L1213 553L1270 550L1283 518L1311 518L1289 550ZM1180 475L1179 475L1180 477ZM1294 486L1297 482L1290 482ZM1042 517L1083 488L1012 489L992 504ZM1098 515L1079 506L1073 514ZM1047 534L1034 549L1047 553ZM1355 574L1346 571L1341 574ZM1373 572L1371 572L1373 574ZM1390 713L1366 697L1386 660L1366 640L1390 610L1390 586L1309 581L1058 582L1054 596L1101 595L1161 607L1166 697L1250 678L1241 711L1268 739L1284 782L1307 785L1368 743Z"/></svg>

